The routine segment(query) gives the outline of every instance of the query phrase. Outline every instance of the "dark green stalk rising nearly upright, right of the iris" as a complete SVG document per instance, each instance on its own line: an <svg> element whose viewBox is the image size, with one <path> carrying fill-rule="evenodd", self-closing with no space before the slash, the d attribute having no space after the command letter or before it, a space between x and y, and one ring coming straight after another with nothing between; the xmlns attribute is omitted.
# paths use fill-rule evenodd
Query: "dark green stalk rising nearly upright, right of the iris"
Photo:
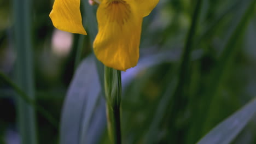
<svg viewBox="0 0 256 144"><path fill-rule="evenodd" d="M185 98L184 92L188 90L186 83L189 83L189 80L190 80L189 65L190 65L190 59L191 59L191 52L193 50L194 41L195 41L194 39L195 39L196 29L199 23L202 2L203 0L197 0L196 2L193 17L192 17L192 23L190 25L187 39L185 41L182 61L178 71L178 83L173 94L174 97L170 99L170 102L169 102L170 106L168 107L168 110L170 110L170 114L168 115L168 119L170 119L170 122L168 122L169 125L174 125L174 121L176 117L181 114L180 112L187 105L187 100L186 100L187 98ZM171 130L170 137L173 137L173 139L175 140L179 140L178 137L174 136L175 134L178 135L176 133L177 131L174 130L172 127L169 129Z"/></svg>

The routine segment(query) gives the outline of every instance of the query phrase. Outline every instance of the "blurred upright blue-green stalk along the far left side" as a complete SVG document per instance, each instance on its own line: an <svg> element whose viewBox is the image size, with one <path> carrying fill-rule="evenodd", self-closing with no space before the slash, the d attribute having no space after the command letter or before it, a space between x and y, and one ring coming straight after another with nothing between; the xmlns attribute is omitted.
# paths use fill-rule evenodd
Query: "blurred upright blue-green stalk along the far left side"
<svg viewBox="0 0 256 144"><path fill-rule="evenodd" d="M14 34L16 47L16 82L32 100L34 79L31 43L31 1L14 0ZM32 106L21 98L17 99L18 125L21 143L36 144L36 113Z"/></svg>

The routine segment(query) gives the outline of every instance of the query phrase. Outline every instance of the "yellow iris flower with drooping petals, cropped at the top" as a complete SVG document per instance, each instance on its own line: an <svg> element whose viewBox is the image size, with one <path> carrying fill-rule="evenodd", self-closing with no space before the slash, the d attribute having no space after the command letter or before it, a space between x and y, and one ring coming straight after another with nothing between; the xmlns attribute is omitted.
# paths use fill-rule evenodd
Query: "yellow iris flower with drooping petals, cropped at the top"
<svg viewBox="0 0 256 144"><path fill-rule="evenodd" d="M118 70L135 67L143 17L159 0L98 0L98 34L94 41L96 57ZM53 25L71 33L86 34L82 25L80 0L55 0L50 13Z"/></svg>

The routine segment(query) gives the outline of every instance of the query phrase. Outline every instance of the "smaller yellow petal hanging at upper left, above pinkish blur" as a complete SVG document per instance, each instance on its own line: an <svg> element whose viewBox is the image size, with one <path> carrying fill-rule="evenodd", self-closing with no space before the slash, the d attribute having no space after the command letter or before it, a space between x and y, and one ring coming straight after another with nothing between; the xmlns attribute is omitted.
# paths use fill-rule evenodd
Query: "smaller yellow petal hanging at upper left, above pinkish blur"
<svg viewBox="0 0 256 144"><path fill-rule="evenodd" d="M50 18L61 31L86 34L80 13L80 0L55 0Z"/></svg>

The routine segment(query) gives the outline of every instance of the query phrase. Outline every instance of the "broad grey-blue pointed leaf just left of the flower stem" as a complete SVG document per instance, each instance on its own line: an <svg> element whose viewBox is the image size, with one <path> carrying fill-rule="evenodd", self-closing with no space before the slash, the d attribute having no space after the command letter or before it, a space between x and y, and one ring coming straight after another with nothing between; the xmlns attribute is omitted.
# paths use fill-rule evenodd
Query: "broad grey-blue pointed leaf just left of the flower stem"
<svg viewBox="0 0 256 144"><path fill-rule="evenodd" d="M68 88L62 109L60 143L96 143L106 125L104 109L96 64L94 57L89 56L79 65Z"/></svg>

